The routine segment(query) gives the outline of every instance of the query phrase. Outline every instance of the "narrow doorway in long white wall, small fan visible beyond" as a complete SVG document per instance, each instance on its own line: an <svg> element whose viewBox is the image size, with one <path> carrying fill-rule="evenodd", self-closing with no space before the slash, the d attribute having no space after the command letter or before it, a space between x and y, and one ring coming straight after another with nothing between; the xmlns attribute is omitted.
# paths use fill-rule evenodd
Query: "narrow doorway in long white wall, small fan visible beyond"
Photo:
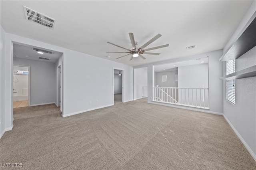
<svg viewBox="0 0 256 170"><path fill-rule="evenodd" d="M124 101L124 70L113 68L113 104Z"/></svg>

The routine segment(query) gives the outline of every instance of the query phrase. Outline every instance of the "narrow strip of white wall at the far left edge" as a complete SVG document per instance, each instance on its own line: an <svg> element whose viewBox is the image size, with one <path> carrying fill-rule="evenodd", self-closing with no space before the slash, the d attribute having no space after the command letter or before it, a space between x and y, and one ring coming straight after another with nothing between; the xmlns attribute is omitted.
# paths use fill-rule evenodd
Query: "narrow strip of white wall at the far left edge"
<svg viewBox="0 0 256 170"><path fill-rule="evenodd" d="M0 28L0 138L5 132L5 31Z"/></svg>

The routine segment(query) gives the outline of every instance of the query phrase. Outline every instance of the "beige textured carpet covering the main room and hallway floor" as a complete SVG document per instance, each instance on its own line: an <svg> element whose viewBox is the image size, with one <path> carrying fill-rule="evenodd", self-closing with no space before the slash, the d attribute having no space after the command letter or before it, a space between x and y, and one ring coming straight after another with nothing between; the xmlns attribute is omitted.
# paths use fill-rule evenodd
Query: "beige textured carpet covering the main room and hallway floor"
<svg viewBox="0 0 256 170"><path fill-rule="evenodd" d="M146 99L62 118L55 105L14 109L1 163L17 169L254 170L224 117ZM11 169L11 168L1 168ZM15 169L15 168L12 168Z"/></svg>

